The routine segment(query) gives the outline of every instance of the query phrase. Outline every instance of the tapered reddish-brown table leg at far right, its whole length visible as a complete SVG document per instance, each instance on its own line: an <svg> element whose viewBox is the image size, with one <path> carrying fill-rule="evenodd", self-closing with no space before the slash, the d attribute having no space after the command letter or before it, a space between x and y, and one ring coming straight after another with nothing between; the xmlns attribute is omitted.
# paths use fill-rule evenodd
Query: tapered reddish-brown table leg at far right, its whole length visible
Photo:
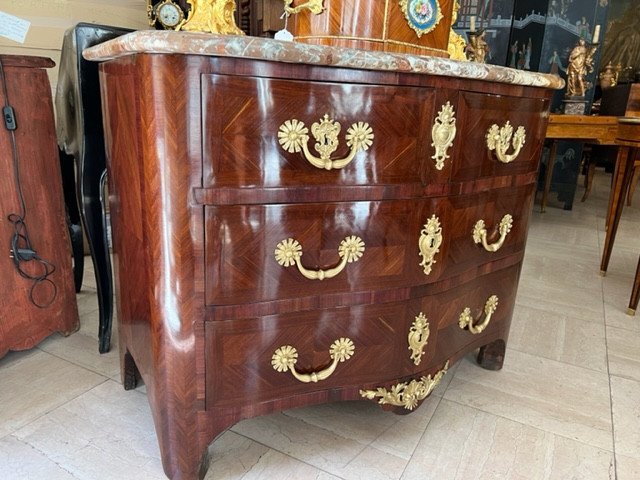
<svg viewBox="0 0 640 480"><path fill-rule="evenodd" d="M631 154L629 147L620 147L618 151L618 159L616 160L616 169L614 172L614 181L609 194L609 210L607 213L607 233L604 241L604 252L602 253L602 262L600 263L600 274L606 275L613 250L613 242L618 231L620 216L622 215L622 207L626 197L627 186L629 185L631 167Z"/></svg>

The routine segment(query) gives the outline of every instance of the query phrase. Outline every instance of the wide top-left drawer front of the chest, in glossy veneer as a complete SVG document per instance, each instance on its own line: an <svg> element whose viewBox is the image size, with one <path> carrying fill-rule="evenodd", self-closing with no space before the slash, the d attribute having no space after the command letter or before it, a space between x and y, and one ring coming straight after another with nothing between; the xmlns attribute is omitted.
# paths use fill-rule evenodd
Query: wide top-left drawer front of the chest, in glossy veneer
<svg viewBox="0 0 640 480"><path fill-rule="evenodd" d="M422 162L432 155L433 97L432 89L417 87L204 75L203 186L419 182L426 176L421 170L428 169ZM346 135L353 124L368 123L374 135L371 146L342 168L317 168L303 152L289 153L278 142L280 126L296 119L308 129L310 153L319 156L312 124L325 114L341 125L331 159L348 157Z"/></svg>

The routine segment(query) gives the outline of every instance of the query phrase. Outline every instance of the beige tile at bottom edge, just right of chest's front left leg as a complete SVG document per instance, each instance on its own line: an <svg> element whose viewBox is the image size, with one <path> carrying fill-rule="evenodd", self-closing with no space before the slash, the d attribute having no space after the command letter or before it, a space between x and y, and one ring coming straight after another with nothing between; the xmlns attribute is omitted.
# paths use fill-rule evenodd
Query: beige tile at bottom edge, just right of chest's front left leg
<svg viewBox="0 0 640 480"><path fill-rule="evenodd" d="M227 431L210 447L205 480L340 480L253 440Z"/></svg>

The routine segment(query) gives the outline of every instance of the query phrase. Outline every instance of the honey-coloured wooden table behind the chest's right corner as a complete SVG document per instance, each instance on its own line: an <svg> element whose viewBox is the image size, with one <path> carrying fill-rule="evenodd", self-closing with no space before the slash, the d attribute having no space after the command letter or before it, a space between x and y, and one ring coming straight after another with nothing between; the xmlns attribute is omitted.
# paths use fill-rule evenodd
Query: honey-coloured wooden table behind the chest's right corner
<svg viewBox="0 0 640 480"><path fill-rule="evenodd" d="M544 180L544 191L542 193L542 203L540 211L545 212L547 198L551 188L551 177L553 167L556 163L556 149L558 140L579 140L597 145L617 145L616 133L618 131L617 117L609 116L586 116L586 115L563 115L552 114L549 116L549 124L545 138L553 140L549 162ZM595 163L594 163L595 165ZM591 176L593 178L593 176ZM586 186L587 191L591 189L591 183Z"/></svg>

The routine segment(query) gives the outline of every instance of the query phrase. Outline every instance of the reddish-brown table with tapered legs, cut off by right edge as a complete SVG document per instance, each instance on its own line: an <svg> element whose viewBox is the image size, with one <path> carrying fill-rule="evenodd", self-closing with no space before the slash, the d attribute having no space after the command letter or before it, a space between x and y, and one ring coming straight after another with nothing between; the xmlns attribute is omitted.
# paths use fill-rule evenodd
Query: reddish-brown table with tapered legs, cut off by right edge
<svg viewBox="0 0 640 480"><path fill-rule="evenodd" d="M613 186L609 195L609 212L607 214L607 235L604 241L604 251L602 262L600 263L600 273L605 275L613 250L613 242L616 238L622 208L624 206L625 192L629 188L629 182L633 173L633 158L636 149L640 148L640 117L623 117L618 119L618 130L616 133L616 145L620 147L616 168L613 174ZM636 270L636 278L633 284L633 291L629 301L628 313L633 315L638 306L640 294L640 263Z"/></svg>

